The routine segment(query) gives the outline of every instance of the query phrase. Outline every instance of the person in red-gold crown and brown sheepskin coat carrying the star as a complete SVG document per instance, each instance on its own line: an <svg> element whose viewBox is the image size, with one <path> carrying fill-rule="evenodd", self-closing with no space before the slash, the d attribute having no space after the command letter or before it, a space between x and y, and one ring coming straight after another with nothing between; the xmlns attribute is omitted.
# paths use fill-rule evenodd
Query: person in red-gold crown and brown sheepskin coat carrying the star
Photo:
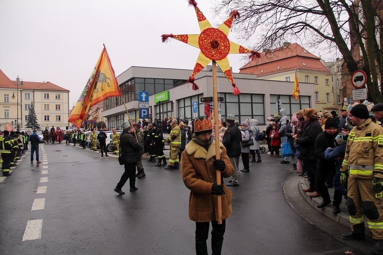
<svg viewBox="0 0 383 255"><path fill-rule="evenodd" d="M182 180L190 190L189 219L196 221L197 254L207 254L206 239L209 235L210 222L213 253L221 254L226 219L232 213L232 194L224 184L216 183L217 171L221 172L223 178L227 178L233 174L234 168L222 143L219 144L220 159L214 160L216 144L211 139L210 117L195 120L194 131L192 140L181 154ZM218 195L222 199L222 224L218 224L216 218Z"/></svg>

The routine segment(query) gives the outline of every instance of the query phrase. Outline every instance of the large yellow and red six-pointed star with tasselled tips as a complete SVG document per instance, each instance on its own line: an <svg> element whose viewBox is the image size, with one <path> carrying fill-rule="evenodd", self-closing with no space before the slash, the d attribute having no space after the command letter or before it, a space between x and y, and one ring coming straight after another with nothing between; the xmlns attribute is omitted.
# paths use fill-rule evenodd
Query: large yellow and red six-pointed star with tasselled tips
<svg viewBox="0 0 383 255"><path fill-rule="evenodd" d="M201 34L197 35L162 35L162 42L166 42L169 38L177 39L181 42L193 45L201 52L198 56L197 63L194 66L193 73L190 75L187 83L193 84L193 90L198 90L197 84L194 83L195 76L199 73L207 64L214 60L220 66L221 70L225 73L227 79L233 86L233 94L239 95L241 91L235 86L233 80L233 74L230 70L229 60L227 55L238 53L250 53L250 60L259 58L260 54L255 50L248 49L239 44L230 41L227 36L229 35L231 24L234 18L239 17L237 11L232 11L230 17L223 22L218 28L211 27L210 22L206 19L200 9L197 7L195 0L189 0L189 5L194 6L196 10L198 23L200 25Z"/></svg>

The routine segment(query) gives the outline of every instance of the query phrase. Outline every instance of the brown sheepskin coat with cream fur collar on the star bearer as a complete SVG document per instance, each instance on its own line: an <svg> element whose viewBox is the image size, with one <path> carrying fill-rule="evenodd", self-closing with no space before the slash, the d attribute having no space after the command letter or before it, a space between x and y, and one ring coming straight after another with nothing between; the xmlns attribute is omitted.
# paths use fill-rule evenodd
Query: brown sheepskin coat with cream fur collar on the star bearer
<svg viewBox="0 0 383 255"><path fill-rule="evenodd" d="M195 136L195 135L193 135ZM211 187L216 183L216 169L213 169L214 156L216 155L215 142L210 144L208 150L190 141L181 155L182 180L190 190L189 196L189 218L196 222L208 222L218 220L217 197L211 195ZM225 171L221 173L221 184L224 185L222 177L230 177L234 167L226 154L226 148L220 143L220 153L225 161ZM222 219L231 215L231 190L224 185L226 195L222 195Z"/></svg>

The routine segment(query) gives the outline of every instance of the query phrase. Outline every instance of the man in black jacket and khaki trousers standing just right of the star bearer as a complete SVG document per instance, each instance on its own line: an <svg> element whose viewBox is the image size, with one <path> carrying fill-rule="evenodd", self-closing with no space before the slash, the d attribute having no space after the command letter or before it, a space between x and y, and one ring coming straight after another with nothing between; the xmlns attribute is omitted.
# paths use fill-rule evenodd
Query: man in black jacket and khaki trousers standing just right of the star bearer
<svg viewBox="0 0 383 255"><path fill-rule="evenodd" d="M227 156L234 167L231 181L227 184L227 186L240 185L238 180L238 168L240 165L242 133L241 130L235 125L234 117L235 116L233 114L227 115L226 125L228 128L222 140L222 143L226 148Z"/></svg>

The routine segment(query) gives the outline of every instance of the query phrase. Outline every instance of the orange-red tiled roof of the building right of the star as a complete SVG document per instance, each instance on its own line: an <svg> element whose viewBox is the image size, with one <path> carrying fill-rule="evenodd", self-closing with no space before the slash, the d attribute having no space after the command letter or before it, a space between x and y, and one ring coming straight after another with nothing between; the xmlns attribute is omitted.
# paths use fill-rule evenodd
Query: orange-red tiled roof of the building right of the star
<svg viewBox="0 0 383 255"><path fill-rule="evenodd" d="M260 58L241 67L240 73L256 74L260 78L263 75L294 69L330 72L320 59L298 43L286 44L262 53Z"/></svg>

